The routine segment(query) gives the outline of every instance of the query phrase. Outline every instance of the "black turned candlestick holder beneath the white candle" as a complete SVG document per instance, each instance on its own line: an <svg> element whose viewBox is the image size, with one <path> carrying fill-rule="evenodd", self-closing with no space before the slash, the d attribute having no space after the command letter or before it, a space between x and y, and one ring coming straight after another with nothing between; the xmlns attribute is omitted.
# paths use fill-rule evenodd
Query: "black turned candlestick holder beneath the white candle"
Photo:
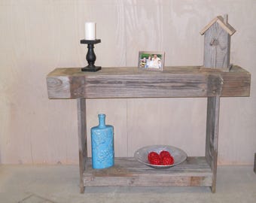
<svg viewBox="0 0 256 203"><path fill-rule="evenodd" d="M100 69L102 69L101 66L95 66L94 63L96 61L96 55L93 51L94 48L94 44L98 44L100 43L100 39L96 39L96 40L81 40L80 44L88 44L87 48L88 48L88 52L87 52L87 62L88 65L84 68L81 68L81 71L91 71L91 72L96 72L99 71Z"/></svg>

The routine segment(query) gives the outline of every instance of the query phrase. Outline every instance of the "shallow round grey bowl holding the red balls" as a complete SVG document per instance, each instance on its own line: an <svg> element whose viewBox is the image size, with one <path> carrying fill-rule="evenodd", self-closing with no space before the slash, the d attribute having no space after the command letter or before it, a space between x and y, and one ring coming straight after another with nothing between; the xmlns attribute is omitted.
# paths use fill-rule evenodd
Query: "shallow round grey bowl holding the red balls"
<svg viewBox="0 0 256 203"><path fill-rule="evenodd" d="M152 165L148 161L148 153L156 152L160 153L161 151L166 150L168 151L173 159L174 163L172 165ZM139 150L136 150L134 153L135 159L137 159L139 162L142 162L145 165L151 166L153 168L157 169L163 169L163 168L170 168L174 165L178 165L181 162L184 162L187 159L187 153L185 153L183 150L178 149L177 147L172 147L169 145L151 145L147 147L142 147Z"/></svg>

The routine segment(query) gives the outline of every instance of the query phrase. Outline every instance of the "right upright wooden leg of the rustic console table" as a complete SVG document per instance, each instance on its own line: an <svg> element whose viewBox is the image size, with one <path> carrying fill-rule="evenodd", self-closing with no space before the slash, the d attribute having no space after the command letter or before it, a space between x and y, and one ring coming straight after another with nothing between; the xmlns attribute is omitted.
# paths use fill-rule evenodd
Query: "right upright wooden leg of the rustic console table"
<svg viewBox="0 0 256 203"><path fill-rule="evenodd" d="M220 97L209 97L206 120L206 161L212 168L212 192L215 192L216 188L219 109Z"/></svg>

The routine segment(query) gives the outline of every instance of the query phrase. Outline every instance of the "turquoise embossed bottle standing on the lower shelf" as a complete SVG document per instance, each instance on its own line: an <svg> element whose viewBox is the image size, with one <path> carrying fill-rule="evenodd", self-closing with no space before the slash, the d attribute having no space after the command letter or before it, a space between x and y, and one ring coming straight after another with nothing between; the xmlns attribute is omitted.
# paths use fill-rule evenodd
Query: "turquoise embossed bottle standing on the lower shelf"
<svg viewBox="0 0 256 203"><path fill-rule="evenodd" d="M90 129L93 168L114 165L114 127L105 125L105 114L99 114L99 126Z"/></svg>

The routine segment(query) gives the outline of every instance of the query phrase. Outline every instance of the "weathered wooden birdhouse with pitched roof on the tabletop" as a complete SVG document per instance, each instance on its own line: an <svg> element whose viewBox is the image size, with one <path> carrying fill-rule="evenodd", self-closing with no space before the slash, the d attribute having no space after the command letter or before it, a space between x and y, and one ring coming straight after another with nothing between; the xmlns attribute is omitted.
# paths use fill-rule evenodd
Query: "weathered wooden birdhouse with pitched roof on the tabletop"
<svg viewBox="0 0 256 203"><path fill-rule="evenodd" d="M204 35L203 66L205 68L220 68L229 71L230 65L230 36L236 32L229 23L227 15L215 17L200 32Z"/></svg>

